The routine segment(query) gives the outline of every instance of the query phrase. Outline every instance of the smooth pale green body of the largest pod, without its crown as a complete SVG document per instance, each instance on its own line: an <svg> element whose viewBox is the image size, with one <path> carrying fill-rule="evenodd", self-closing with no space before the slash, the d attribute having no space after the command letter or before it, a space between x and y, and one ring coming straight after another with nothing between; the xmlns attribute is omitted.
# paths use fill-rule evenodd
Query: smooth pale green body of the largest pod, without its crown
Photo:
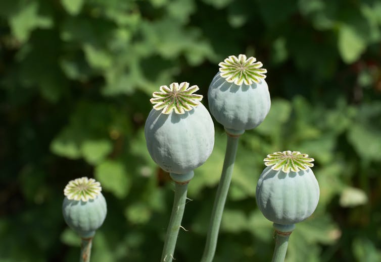
<svg viewBox="0 0 381 262"><path fill-rule="evenodd" d="M214 124L203 104L183 114L152 109L145 136L152 159L165 171L188 173L201 166L214 146Z"/></svg>

